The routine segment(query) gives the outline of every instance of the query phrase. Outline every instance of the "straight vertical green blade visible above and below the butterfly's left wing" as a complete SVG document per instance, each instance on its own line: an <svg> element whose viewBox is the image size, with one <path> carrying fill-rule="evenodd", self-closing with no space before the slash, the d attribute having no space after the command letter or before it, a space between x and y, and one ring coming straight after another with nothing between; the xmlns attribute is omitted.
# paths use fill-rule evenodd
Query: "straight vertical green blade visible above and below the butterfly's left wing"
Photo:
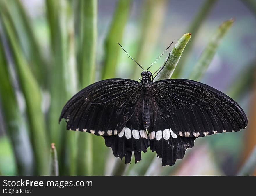
<svg viewBox="0 0 256 196"><path fill-rule="evenodd" d="M86 87L95 81L97 45L97 1L81 1L81 84ZM77 174L93 174L93 135L83 132L78 138Z"/></svg>

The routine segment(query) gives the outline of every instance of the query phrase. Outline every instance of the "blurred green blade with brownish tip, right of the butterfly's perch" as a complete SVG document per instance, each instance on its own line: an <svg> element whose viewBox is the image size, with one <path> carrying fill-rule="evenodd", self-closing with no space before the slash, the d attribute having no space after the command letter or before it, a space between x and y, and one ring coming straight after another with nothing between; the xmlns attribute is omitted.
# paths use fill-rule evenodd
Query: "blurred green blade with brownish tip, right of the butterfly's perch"
<svg viewBox="0 0 256 196"><path fill-rule="evenodd" d="M234 19L230 19L225 21L223 24L219 26L216 32L210 37L210 41L207 44L206 48L200 55L197 63L195 64L189 78L191 80L200 80L202 76L205 74L209 64L211 63L218 46L227 33L227 30L232 26Z"/></svg>

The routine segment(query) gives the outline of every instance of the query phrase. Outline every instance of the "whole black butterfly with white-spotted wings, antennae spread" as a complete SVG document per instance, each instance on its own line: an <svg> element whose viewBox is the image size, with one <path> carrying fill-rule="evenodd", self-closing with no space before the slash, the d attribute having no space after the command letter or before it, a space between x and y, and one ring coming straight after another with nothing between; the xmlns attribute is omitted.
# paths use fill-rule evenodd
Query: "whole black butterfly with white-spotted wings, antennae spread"
<svg viewBox="0 0 256 196"><path fill-rule="evenodd" d="M114 78L91 84L66 103L59 122L64 118L67 130L104 137L125 163L132 152L135 163L140 161L150 147L162 166L182 159L198 137L247 126L243 109L221 91L193 80L153 79L143 69L140 82Z"/></svg>

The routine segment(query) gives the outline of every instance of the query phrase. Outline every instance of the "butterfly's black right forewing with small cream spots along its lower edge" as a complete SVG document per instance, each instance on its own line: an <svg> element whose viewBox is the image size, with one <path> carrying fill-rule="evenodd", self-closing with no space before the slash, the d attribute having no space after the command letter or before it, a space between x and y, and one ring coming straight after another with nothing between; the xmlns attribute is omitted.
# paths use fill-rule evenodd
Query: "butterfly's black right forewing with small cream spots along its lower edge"
<svg viewBox="0 0 256 196"><path fill-rule="evenodd" d="M183 137L239 131L247 125L241 107L220 91L186 79L153 83L153 96L170 128Z"/></svg>

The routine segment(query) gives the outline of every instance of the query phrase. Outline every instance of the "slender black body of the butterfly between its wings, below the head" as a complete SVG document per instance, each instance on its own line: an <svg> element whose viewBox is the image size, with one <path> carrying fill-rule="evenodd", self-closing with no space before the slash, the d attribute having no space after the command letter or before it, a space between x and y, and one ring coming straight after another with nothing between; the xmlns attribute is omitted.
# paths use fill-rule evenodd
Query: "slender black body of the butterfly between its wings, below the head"
<svg viewBox="0 0 256 196"><path fill-rule="evenodd" d="M143 127L145 130L148 130L150 126L150 90L147 87L143 89Z"/></svg>

